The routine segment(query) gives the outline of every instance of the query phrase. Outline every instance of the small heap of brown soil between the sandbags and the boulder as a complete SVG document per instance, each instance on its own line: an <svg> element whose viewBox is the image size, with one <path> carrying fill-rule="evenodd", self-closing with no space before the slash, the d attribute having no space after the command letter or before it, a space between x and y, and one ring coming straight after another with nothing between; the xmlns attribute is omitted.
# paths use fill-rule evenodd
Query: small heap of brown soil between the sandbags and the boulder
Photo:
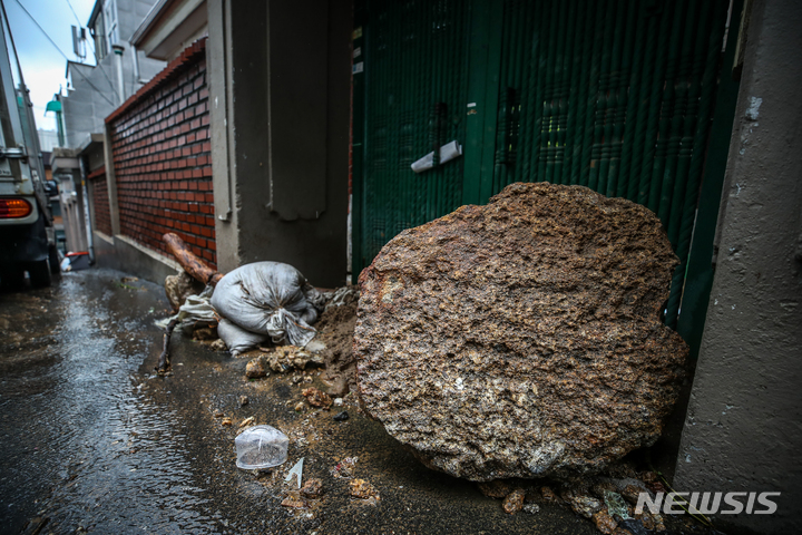
<svg viewBox="0 0 802 535"><path fill-rule="evenodd" d="M356 302L330 307L315 324L317 338L325 343L323 382L330 396L356 391L356 362L353 356L353 331L356 324Z"/></svg>

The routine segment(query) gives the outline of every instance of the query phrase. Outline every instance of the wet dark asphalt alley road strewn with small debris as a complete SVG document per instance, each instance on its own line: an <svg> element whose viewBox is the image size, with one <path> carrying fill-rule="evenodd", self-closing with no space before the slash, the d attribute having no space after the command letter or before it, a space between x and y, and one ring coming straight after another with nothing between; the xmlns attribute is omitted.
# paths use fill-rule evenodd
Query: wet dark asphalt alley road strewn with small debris
<svg viewBox="0 0 802 535"><path fill-rule="evenodd" d="M247 358L186 335L173 340L174 374L155 376L154 320L167 300L160 286L124 276L89 270L0 294L0 532L598 533L548 504L507 515L475 484L420 465L352 397L348 421L299 414L307 383L248 381ZM237 425L251 416L290 436L285 465L261 475L236 468ZM355 476L380 493L375 506L330 473L354 456ZM325 494L288 509L283 476L301 457L304 479L320 477Z"/></svg>

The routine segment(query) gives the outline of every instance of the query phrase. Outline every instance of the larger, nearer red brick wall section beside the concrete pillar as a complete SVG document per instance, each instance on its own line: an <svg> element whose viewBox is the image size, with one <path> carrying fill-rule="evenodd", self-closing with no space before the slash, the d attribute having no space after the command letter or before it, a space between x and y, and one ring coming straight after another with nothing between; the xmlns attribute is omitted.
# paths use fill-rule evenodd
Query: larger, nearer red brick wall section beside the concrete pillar
<svg viewBox="0 0 802 535"><path fill-rule="evenodd" d="M166 232L216 266L205 39L115 110L111 133L120 232L167 252Z"/></svg>

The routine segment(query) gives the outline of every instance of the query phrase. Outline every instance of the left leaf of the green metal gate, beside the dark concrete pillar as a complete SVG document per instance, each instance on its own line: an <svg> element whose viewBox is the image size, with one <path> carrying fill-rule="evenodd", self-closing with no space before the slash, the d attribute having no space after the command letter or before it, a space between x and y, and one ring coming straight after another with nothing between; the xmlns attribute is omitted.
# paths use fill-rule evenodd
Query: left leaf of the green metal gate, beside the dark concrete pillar
<svg viewBox="0 0 802 535"><path fill-rule="evenodd" d="M364 3L364 163L361 198L354 198L361 203L358 270L401 231L462 204L462 158L420 174L411 164L430 152L437 158L439 147L451 140L464 142L468 72L466 2Z"/></svg>

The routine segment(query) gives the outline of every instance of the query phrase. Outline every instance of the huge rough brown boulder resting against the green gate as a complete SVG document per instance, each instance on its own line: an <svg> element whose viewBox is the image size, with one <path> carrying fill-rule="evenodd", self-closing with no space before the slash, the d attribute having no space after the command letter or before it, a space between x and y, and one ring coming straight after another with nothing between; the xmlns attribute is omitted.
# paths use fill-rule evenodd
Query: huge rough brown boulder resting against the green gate
<svg viewBox="0 0 802 535"><path fill-rule="evenodd" d="M676 400L676 265L652 212L581 186L512 184L404 231L360 275L363 407L458 477L596 473Z"/></svg>

